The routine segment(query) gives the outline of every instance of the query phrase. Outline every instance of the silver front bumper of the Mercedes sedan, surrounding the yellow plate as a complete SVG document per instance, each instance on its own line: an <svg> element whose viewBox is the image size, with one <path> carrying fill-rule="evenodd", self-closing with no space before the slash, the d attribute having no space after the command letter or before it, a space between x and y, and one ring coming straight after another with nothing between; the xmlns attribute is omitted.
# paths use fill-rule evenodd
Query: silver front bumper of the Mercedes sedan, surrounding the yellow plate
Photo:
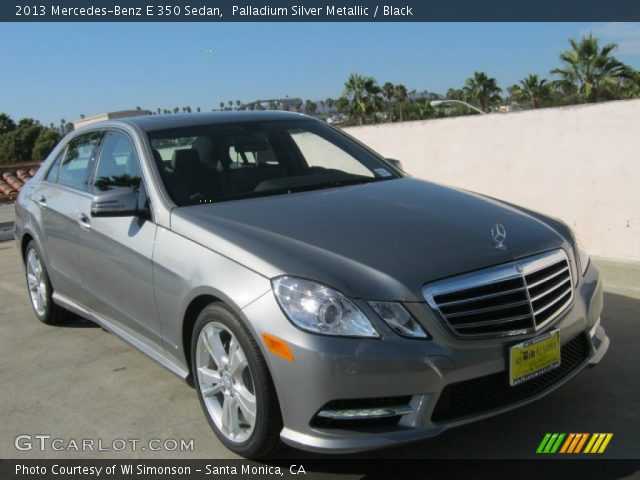
<svg viewBox="0 0 640 480"><path fill-rule="evenodd" d="M350 453L418 441L517 408L551 392L587 365L598 363L608 349L609 339L600 325L602 286L595 266L589 267L575 293L572 305L535 334L560 329L563 355L565 347L573 348L584 341L584 355L574 358L570 369L555 375L542 388L513 396L514 400L506 404L499 403L495 408L487 404L472 414L460 410L460 416L449 415L445 420L436 413L438 402L447 401L443 392L483 378L491 377L495 382L504 376L506 381L508 346L535 335L457 340L424 303L406 307L426 327L432 340L401 338L384 325L376 325L381 339L309 334L284 317L271 292L245 307L243 313L256 338L262 333L276 335L287 341L295 357L290 362L263 349L282 410L282 440L303 450ZM359 306L374 315L366 303L359 302ZM508 389L503 390L505 395L510 394ZM354 426L338 422L328 427L315 421L319 412L327 411L327 405L336 401L381 399L388 403L390 398L398 397L407 399L411 410L395 423Z"/></svg>

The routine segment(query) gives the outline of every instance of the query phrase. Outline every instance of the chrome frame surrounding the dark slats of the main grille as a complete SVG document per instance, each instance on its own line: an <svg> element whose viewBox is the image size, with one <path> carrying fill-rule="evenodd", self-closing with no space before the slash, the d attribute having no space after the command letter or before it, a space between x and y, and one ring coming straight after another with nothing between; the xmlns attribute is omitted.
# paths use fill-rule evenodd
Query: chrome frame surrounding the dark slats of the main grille
<svg viewBox="0 0 640 480"><path fill-rule="evenodd" d="M549 267L554 263L560 261L566 261L567 266L569 268L569 279L571 281L570 287L570 297L569 299L560 306L553 315L551 315L548 319L540 324L536 324L535 321L535 312L533 309L533 303L531 301L531 296L529 289L532 286L527 285L526 276L530 275L538 270ZM475 333L475 334L461 334L456 331L453 325L449 323L446 316L441 312L440 306L434 300L434 298L438 295L447 294L447 293L455 293L462 290L466 290L469 288L480 287L483 285L501 282L505 280L514 280L514 279L522 279L522 284L524 287L524 291L526 292L527 298L529 300L529 309L531 312L531 320L532 325L529 328L520 328L515 330L508 330L503 332L496 333ZM535 285L535 284L534 284ZM501 337L512 337L518 335L530 335L540 330L543 330L550 324L552 324L555 320L557 320L573 303L575 296L575 286L576 281L574 278L574 273L571 268L571 262L569 259L569 255L565 252L564 249L559 248L557 250L552 250L550 252L541 253L538 255L533 255L531 257L526 257L520 260L516 260L513 262L509 262L502 265L496 265L495 267L489 267L482 270L477 270L470 273L465 273L462 275L457 275L455 277L446 278L443 280L435 281L429 284L426 284L422 288L422 294L427 301L427 304L433 309L436 315L440 318L443 325L446 327L449 334L457 339L467 340L467 339L488 339L488 338L501 338ZM566 294L565 294L566 295ZM562 298L562 297L559 297ZM450 303L450 302L449 302ZM443 304L444 305L444 304ZM540 312L539 312L540 313Z"/></svg>

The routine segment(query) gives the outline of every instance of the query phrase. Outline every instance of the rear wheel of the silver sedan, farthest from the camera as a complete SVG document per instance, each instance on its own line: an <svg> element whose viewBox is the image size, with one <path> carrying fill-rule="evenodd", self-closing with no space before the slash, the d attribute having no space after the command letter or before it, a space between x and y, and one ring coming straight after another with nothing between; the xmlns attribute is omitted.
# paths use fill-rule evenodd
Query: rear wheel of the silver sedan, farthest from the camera
<svg viewBox="0 0 640 480"><path fill-rule="evenodd" d="M31 240L24 251L25 276L31 308L42 323L55 325L68 311L53 302L53 288L36 242Z"/></svg>

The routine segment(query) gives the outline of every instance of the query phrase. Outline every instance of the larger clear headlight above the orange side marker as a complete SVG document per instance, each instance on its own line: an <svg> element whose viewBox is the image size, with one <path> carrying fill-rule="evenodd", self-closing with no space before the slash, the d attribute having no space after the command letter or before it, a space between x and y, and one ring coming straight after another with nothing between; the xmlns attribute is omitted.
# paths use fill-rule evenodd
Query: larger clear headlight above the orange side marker
<svg viewBox="0 0 640 480"><path fill-rule="evenodd" d="M271 281L287 318L303 330L323 335L379 337L369 319L340 292L296 277Z"/></svg>

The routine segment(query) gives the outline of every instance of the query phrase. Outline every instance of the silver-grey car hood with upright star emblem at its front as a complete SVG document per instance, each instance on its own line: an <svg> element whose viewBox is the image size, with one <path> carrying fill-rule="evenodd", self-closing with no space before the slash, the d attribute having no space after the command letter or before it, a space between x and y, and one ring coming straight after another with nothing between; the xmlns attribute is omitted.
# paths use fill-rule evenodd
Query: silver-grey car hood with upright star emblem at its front
<svg viewBox="0 0 640 480"><path fill-rule="evenodd" d="M171 229L266 277L356 297L423 301L422 286L567 248L545 217L412 178L179 207ZM505 248L492 235L504 226Z"/></svg>

